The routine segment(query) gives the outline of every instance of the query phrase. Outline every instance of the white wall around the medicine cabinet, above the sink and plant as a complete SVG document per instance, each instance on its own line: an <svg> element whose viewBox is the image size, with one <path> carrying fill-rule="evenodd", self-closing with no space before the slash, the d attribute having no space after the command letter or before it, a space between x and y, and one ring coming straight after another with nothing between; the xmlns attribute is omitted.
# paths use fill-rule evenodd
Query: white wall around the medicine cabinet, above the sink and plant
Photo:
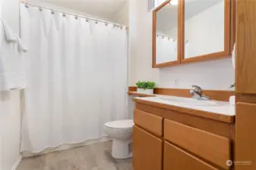
<svg viewBox="0 0 256 170"><path fill-rule="evenodd" d="M129 45L129 85L152 80L166 88L201 85L203 89L229 90L235 82L231 58L152 69L152 12L147 11L147 0L130 0Z"/></svg>

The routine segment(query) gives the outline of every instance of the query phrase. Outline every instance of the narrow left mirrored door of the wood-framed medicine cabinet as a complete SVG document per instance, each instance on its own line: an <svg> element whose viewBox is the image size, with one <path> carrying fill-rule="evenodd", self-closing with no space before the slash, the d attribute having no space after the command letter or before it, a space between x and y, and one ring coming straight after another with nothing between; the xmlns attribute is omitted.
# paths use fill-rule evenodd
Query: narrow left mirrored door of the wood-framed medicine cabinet
<svg viewBox="0 0 256 170"><path fill-rule="evenodd" d="M153 11L153 67L179 61L178 6L178 0L166 1Z"/></svg>

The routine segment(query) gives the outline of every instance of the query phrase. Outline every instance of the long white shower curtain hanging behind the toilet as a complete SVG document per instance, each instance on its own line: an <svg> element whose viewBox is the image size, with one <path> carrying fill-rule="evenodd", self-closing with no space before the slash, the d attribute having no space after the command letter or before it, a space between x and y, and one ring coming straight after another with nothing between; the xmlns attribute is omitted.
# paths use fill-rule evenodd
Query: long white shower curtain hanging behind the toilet
<svg viewBox="0 0 256 170"><path fill-rule="evenodd" d="M21 38L21 151L101 138L104 122L128 118L125 27L21 4Z"/></svg>

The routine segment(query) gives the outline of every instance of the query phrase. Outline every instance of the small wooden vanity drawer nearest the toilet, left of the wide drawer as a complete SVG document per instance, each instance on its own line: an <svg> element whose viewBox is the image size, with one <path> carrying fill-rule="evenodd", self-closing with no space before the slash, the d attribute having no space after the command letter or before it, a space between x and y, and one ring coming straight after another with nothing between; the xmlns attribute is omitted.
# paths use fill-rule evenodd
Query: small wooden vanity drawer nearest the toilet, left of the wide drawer
<svg viewBox="0 0 256 170"><path fill-rule="evenodd" d="M134 123L157 136L163 135L163 118L160 116L141 110L134 110Z"/></svg>

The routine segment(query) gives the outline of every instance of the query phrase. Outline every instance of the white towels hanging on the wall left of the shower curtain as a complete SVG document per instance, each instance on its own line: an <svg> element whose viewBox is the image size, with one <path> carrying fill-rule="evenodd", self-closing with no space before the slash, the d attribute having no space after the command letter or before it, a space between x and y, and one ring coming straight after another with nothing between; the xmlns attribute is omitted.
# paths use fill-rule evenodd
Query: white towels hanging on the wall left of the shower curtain
<svg viewBox="0 0 256 170"><path fill-rule="evenodd" d="M20 38L0 18L0 91L26 88L24 60Z"/></svg>

